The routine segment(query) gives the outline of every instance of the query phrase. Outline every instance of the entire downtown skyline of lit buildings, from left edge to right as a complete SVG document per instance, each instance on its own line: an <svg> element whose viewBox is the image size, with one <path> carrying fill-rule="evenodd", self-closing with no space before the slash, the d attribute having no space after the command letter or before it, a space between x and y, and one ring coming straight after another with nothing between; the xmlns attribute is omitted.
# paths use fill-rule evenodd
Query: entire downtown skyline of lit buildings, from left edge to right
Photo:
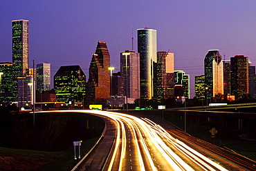
<svg viewBox="0 0 256 171"><path fill-rule="evenodd" d="M90 104L124 108L139 100L140 107L145 108L147 101L163 105L165 99L190 99L190 75L174 70L173 52L157 52L154 29L137 30L138 52L133 46L120 52L120 72L113 72L107 43L98 41L88 81L79 65L61 66L51 90L51 63L28 67L28 28L27 20L12 21L12 63L0 63L3 102L17 102L19 107L36 103L39 108L88 108ZM248 94L256 97L255 66L248 57L235 55L222 60L219 50L209 50L204 63L205 74L195 77L195 99L210 103Z"/></svg>

